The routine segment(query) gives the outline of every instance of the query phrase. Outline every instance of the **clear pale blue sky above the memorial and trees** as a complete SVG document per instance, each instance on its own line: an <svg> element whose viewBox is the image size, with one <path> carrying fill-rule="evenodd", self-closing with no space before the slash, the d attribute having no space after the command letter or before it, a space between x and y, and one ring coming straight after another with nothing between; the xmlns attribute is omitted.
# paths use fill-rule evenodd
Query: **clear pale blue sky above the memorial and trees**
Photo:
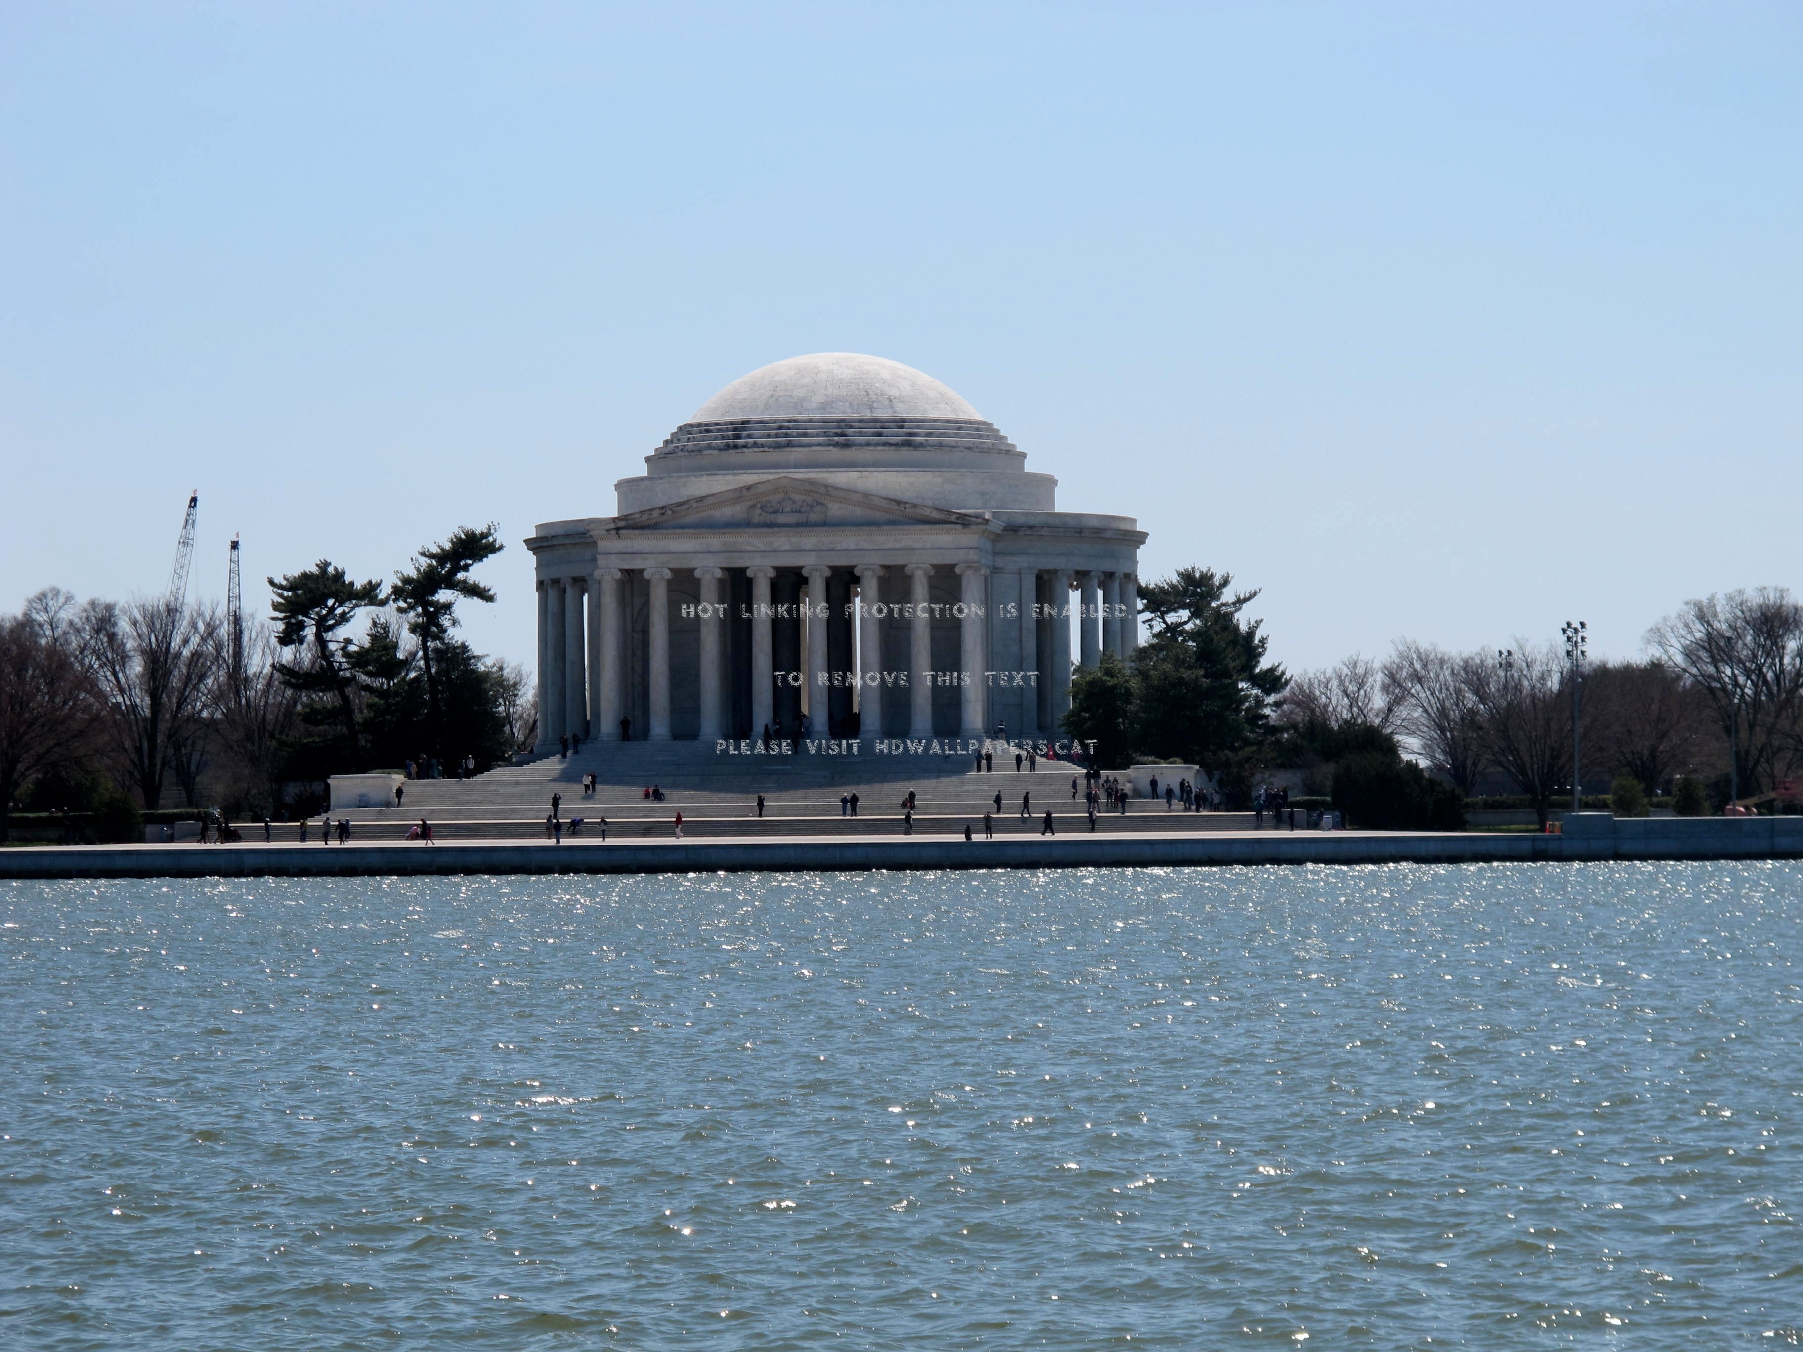
<svg viewBox="0 0 1803 1352"><path fill-rule="evenodd" d="M1796 4L0 7L0 606L537 521L779 357L965 395L1273 654L1799 582Z"/></svg>

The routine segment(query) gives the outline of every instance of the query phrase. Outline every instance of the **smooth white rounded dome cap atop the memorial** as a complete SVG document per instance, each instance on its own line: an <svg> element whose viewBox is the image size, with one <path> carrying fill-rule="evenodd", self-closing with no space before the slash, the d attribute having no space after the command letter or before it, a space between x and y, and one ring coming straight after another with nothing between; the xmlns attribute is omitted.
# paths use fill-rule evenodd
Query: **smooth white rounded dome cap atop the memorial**
<svg viewBox="0 0 1803 1352"><path fill-rule="evenodd" d="M741 375L689 422L739 418L981 420L983 415L912 366L858 352L815 352Z"/></svg>

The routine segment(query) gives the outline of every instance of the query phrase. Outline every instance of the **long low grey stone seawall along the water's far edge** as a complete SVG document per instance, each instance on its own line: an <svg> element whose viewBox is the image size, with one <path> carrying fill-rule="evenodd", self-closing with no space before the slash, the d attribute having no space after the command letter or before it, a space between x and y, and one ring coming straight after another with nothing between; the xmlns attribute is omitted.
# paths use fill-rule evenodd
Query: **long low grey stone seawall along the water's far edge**
<svg viewBox="0 0 1803 1352"><path fill-rule="evenodd" d="M1251 831L1242 835L566 840L352 845L67 845L0 851L0 878L330 878L472 872L1075 869L1248 863L1554 863L1803 858L1803 817L1567 818L1565 835Z"/></svg>

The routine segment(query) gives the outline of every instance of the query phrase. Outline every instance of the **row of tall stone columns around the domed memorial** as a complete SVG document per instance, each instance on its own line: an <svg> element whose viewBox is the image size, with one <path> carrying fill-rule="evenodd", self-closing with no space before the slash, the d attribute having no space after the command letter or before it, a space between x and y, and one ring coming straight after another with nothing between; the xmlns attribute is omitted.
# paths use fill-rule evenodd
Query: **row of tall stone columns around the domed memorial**
<svg viewBox="0 0 1803 1352"><path fill-rule="evenodd" d="M943 568L943 564L941 564ZM645 633L645 714L647 728L642 735L649 741L671 739L671 617L669 582L673 571L664 566L636 570L645 582L649 602L649 624ZM824 710L826 690L831 681L828 658L828 618L829 606L828 577L833 570L828 564L804 564L801 573L808 579L808 604L802 607L806 626L806 672L810 690L819 692L811 708ZM860 597L880 597L882 579L889 571L880 564L856 564ZM903 618L909 624L909 672L932 671L932 600L930 579L934 564L903 564L907 575L907 597ZM983 737L984 703L990 681L984 672L992 667L995 653L992 617L990 617L990 570L983 564L963 562L952 571L959 577L959 602L952 609L959 626L959 665L965 680L959 685L959 735ZM730 735L732 690L727 678L727 660L723 647L723 624L727 615L727 597L721 582L727 570L719 566L701 566L692 570L698 584L700 604L700 726L698 737L712 741ZM768 564L755 564L745 570L750 580L750 721L757 735L773 723L775 696L775 645L772 620L777 607L772 606L772 580L777 570ZM1039 579L1044 575L1049 584L1048 611L1039 602ZM626 696L626 631L620 613L620 582L626 570L595 568L582 577L548 577L539 582L539 746L555 748L561 737L581 735L591 741L618 741L622 717L627 708ZM1049 725L1039 728L1039 681L1033 680L1030 692L1022 694L1020 725L1011 735L1035 737L1058 728L1069 710L1071 683L1071 626L1069 617L1078 622L1078 654L1082 667L1100 665L1102 653L1114 653L1127 658L1138 647L1138 579L1123 571L1094 570L1019 570L1020 604L1006 618L995 624L1020 624L1019 654L1020 667L1035 671L1039 667L1040 624L1049 626L1049 653L1046 672L1049 687ZM1071 606L1071 591L1078 591L1078 606ZM898 602L889 604L894 613ZM867 602L860 600L864 622L858 626L858 669L864 681L858 685L860 725L865 735L880 735L885 725L883 701L907 701L907 735L932 737L932 681L912 678L907 683L885 683L882 678L871 680L871 672L883 671L882 627L871 618ZM941 606L943 609L943 606ZM1010 642L1010 649L1013 644ZM1026 689L1026 687L1024 687ZM815 714L815 730L826 734L826 719ZM636 730L635 730L636 732Z"/></svg>

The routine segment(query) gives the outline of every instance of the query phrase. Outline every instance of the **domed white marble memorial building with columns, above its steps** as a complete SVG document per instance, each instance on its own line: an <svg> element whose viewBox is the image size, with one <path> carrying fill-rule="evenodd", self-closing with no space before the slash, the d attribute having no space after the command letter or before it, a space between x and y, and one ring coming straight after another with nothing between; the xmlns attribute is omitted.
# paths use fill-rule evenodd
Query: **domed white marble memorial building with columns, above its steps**
<svg viewBox="0 0 1803 1352"><path fill-rule="evenodd" d="M1073 660L1138 644L1145 543L1055 489L911 366L829 352L734 380L615 483L615 516L526 541L537 748L1055 739Z"/></svg>

